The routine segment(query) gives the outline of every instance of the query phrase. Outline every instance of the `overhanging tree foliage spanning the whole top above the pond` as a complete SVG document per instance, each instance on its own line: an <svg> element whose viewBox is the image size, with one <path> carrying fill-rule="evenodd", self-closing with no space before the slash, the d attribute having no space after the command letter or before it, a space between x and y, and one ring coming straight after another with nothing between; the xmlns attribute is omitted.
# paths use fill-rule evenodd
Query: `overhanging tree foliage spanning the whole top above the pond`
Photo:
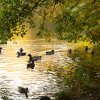
<svg viewBox="0 0 100 100"><path fill-rule="evenodd" d="M68 41L100 40L99 0L0 0L0 42L26 34L24 22L40 26L39 36L50 36L47 22L56 26L56 35Z"/></svg>

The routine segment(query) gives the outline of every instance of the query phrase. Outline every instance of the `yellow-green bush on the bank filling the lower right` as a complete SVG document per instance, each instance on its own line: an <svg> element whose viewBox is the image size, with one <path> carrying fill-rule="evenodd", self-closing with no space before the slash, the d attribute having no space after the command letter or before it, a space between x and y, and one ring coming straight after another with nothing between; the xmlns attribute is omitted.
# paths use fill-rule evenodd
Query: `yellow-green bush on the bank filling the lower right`
<svg viewBox="0 0 100 100"><path fill-rule="evenodd" d="M94 48L94 55L91 50ZM100 98L100 44L85 51L78 45L68 54L71 62L67 66L49 65L49 70L56 72L62 79L61 91L56 94L56 100L99 100Z"/></svg>

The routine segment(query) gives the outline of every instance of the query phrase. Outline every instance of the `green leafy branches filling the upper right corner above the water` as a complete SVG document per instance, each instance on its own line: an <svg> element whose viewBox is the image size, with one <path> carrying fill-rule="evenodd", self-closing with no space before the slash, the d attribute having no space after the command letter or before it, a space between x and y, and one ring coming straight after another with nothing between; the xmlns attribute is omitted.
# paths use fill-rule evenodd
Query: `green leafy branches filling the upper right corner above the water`
<svg viewBox="0 0 100 100"><path fill-rule="evenodd" d="M70 2L68 2L70 3ZM69 41L81 40L100 40L100 14L99 1L92 2L76 1L75 5L68 3L62 7L62 12L56 18L56 31L66 32L63 39ZM68 7L68 8L67 8Z"/></svg>

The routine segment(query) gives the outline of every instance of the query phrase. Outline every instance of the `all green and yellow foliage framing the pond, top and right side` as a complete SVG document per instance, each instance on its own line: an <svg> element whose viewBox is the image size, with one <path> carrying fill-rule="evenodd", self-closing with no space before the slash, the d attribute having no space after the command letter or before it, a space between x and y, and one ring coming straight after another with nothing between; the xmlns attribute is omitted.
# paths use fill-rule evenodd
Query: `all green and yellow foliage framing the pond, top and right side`
<svg viewBox="0 0 100 100"><path fill-rule="evenodd" d="M35 28L35 20L38 37L79 43L66 54L68 66L49 69L63 79L56 99L100 100L100 0L0 0L0 43L24 37L25 23ZM47 23L54 24L54 33Z"/></svg>

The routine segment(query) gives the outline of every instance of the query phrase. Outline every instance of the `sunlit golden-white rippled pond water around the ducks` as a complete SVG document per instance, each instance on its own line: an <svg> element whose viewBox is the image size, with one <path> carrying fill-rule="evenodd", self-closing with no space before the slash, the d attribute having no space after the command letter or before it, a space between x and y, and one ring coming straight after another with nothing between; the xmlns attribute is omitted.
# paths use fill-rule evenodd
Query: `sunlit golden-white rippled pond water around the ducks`
<svg viewBox="0 0 100 100"><path fill-rule="evenodd" d="M59 91L58 78L54 74L40 71L41 64L54 61L64 64L66 58L63 52L68 45L66 43L47 43L41 41L17 41L8 42L3 45L2 54L0 54L0 100L7 96L11 100L39 100L43 95L50 96L54 100L54 93ZM28 70L26 68L28 56L17 58L16 52L23 48L27 54L41 55L42 60L35 62L35 68ZM55 50L54 55L47 56L45 52ZM45 66L42 66L45 67ZM29 98L18 92L18 87L29 88Z"/></svg>

